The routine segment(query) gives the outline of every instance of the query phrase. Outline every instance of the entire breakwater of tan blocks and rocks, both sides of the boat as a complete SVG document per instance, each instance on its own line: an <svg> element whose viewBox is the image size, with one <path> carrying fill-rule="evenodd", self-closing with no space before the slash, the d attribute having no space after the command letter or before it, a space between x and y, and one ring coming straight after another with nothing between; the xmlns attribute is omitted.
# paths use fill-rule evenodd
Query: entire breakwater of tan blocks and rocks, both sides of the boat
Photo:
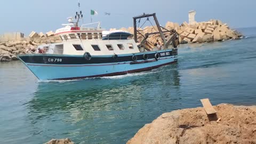
<svg viewBox="0 0 256 144"><path fill-rule="evenodd" d="M220 20L196 22L194 25L188 25L187 22L183 22L181 25L178 23L167 22L165 28L162 28L163 31L171 31L173 29L179 33L179 42L181 44L218 42L229 39L240 39L243 37L243 34L239 33L237 30L230 29L227 23L222 23ZM110 29L109 31L113 30L116 29ZM128 31L131 34L134 33L133 27L127 29L121 28L119 30ZM138 28L138 30L139 42L144 38L142 35L157 32L156 26L146 26L143 29ZM168 36L170 36L170 34L165 35L165 37ZM150 35L147 41L151 43L152 46L157 45L158 42L160 45L163 45L163 39L159 34ZM21 38L19 41L0 43L0 61L17 60L17 54L30 53L31 50L35 51L38 45L57 42L61 42L61 39L58 35L54 36L53 31L49 31L46 34L43 34L42 32L37 34L35 31L32 31L29 34L29 37Z"/></svg>

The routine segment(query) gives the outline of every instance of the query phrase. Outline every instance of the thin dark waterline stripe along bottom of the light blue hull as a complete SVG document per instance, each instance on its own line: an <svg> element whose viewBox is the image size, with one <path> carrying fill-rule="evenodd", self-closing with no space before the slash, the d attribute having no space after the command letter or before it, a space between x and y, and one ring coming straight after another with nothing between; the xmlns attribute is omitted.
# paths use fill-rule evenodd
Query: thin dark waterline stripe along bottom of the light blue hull
<svg viewBox="0 0 256 144"><path fill-rule="evenodd" d="M82 79L82 78L91 78L91 77L105 77L105 76L117 76L117 75L126 75L126 74L131 74L131 73L139 73L142 71L149 71L149 70L153 70L162 66L166 66L166 65L170 65L173 63L177 63L178 59L175 59L172 62L168 62L168 63L164 63L162 65L157 65L157 66L153 66L153 67L147 67L147 68L141 68L141 69L134 69L134 70L128 70L128 71L121 71L121 72L117 72L117 73L110 73L110 74L103 74L103 75L93 75L93 76L85 76L85 77L69 77L69 78L58 78L56 80L70 80L70 79Z"/></svg>

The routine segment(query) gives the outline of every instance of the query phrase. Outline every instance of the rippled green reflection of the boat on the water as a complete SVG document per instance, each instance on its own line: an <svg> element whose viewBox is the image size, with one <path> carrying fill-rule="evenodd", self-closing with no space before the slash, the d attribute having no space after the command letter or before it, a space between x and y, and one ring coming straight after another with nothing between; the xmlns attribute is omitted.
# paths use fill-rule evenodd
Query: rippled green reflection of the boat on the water
<svg viewBox="0 0 256 144"><path fill-rule="evenodd" d="M42 135L46 132L47 135L55 134L61 129L56 125L65 125L68 129L57 137L65 135L63 137L72 137L81 143L97 143L99 140L94 139L95 135L101 133L125 137L120 141L108 136L103 137L103 141L112 143L115 139L124 143L130 138L126 136L128 125L138 125L145 122L142 119L151 117L149 114L161 113L160 109L165 107L157 103L166 99L178 100L170 91L179 91L179 81L177 65L172 65L126 76L39 82L34 98L26 103L28 120ZM159 111L154 111L156 109ZM42 125L46 132L40 128Z"/></svg>

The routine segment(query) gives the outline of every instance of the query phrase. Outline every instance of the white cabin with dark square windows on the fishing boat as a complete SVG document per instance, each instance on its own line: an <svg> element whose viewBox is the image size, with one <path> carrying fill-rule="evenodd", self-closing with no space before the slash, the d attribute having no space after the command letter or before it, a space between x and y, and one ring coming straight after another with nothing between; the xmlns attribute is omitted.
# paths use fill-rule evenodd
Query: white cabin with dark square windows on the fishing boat
<svg viewBox="0 0 256 144"><path fill-rule="evenodd" d="M74 27L67 24L66 27L56 30L55 35L59 35L62 43L54 43L49 45L49 49L45 49L45 45L41 49L49 54L71 54L83 55L85 52L91 55L113 55L113 54L129 54L140 52L134 39L131 37L102 38L101 28ZM127 33L128 34L128 33ZM126 34L126 35L127 35ZM131 35L131 34L130 34Z"/></svg>

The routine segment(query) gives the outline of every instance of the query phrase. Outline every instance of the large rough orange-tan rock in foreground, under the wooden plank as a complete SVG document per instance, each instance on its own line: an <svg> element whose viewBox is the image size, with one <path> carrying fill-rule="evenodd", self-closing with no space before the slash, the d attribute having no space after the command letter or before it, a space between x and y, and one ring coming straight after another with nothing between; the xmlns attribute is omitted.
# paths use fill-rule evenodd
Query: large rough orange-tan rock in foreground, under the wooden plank
<svg viewBox="0 0 256 144"><path fill-rule="evenodd" d="M221 104L209 121L204 108L175 110L146 124L127 143L256 143L256 107Z"/></svg>

